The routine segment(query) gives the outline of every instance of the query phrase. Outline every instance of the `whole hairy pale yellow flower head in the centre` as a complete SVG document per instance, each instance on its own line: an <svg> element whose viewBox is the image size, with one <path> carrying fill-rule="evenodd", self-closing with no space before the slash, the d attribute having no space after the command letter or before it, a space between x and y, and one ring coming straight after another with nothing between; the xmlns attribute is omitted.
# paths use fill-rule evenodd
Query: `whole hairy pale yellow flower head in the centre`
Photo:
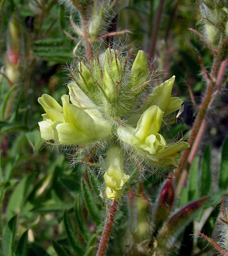
<svg viewBox="0 0 228 256"><path fill-rule="evenodd" d="M86 148L91 143L109 145L107 172L104 174L107 197L117 199L129 176L123 173L121 147L126 158L142 159L165 167L177 166L179 151L186 142L168 144L159 133L163 117L181 108L183 101L171 97L175 77L153 89L146 100L142 94L151 82L146 55L139 51L132 66L126 55L108 48L91 62L79 61L70 69L73 82L61 106L51 96L38 99L46 114L39 122L41 137L60 144ZM127 150L126 150L127 149Z"/></svg>

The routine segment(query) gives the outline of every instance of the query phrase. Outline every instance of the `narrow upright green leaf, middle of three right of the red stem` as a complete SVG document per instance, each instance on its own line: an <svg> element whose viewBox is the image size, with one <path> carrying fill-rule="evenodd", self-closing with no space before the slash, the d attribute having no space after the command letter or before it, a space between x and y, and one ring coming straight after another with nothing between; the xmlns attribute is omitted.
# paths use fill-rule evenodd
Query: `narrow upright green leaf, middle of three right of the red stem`
<svg viewBox="0 0 228 256"><path fill-rule="evenodd" d="M207 196L211 189L210 145L205 148L201 166L201 197Z"/></svg>

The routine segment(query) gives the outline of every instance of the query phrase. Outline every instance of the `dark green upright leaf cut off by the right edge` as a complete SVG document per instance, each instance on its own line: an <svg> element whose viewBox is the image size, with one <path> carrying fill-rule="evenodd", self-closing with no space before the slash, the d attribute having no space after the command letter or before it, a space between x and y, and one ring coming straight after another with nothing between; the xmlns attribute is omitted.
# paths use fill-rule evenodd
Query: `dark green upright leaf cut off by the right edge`
<svg viewBox="0 0 228 256"><path fill-rule="evenodd" d="M218 187L220 189L227 189L228 186L228 137L223 142L222 159L220 163Z"/></svg>

